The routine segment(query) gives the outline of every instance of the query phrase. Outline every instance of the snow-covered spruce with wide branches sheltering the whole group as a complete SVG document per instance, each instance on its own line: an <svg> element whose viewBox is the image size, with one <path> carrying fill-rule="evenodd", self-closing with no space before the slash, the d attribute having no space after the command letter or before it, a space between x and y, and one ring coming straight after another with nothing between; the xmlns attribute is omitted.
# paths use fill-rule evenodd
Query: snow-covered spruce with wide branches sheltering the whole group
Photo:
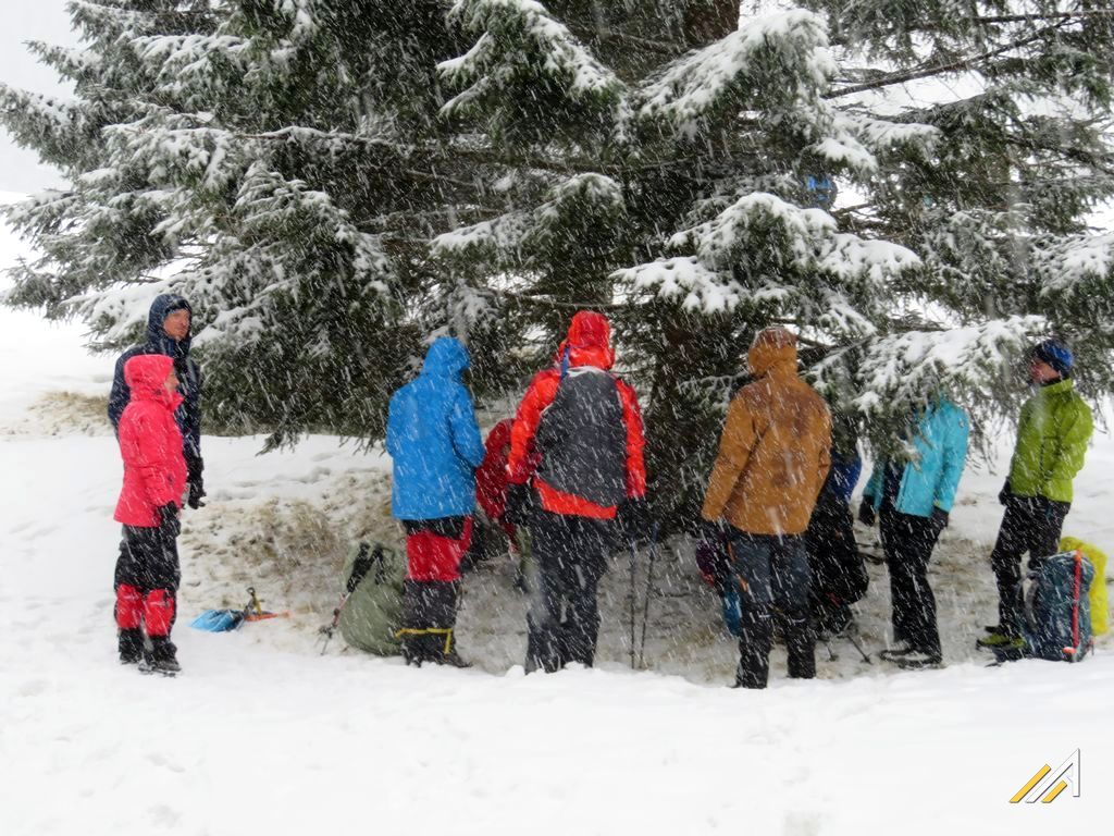
<svg viewBox="0 0 1114 836"><path fill-rule="evenodd" d="M579 307L617 325L676 518L773 322L876 440L938 388L1008 414L1044 330L1114 383L1112 242L1081 221L1112 191L1105 7L72 8L88 48L40 51L77 101L4 94L74 184L17 210L47 260L12 301L120 342L152 282L187 293L223 417L276 441L374 438L446 329L506 390Z"/></svg>

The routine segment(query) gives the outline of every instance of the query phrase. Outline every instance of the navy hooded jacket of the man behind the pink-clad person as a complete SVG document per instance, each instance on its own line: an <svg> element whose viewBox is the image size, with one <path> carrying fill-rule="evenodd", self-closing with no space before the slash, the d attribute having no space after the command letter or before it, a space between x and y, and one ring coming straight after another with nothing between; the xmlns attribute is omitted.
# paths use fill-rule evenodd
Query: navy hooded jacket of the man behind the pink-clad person
<svg viewBox="0 0 1114 836"><path fill-rule="evenodd" d="M193 309L182 297L164 293L155 297L147 312L147 341L143 346L129 348L116 361L116 372L113 377L113 391L108 396L108 420L113 429L118 429L124 408L131 400L131 390L124 381L124 363L136 354L166 354L174 358L174 369L178 375L178 393L182 406L174 414L182 431L183 453L190 478L201 476L202 470L202 373L189 359L189 336L179 341L172 340L163 330L163 322L173 311L186 310L193 317Z"/></svg>

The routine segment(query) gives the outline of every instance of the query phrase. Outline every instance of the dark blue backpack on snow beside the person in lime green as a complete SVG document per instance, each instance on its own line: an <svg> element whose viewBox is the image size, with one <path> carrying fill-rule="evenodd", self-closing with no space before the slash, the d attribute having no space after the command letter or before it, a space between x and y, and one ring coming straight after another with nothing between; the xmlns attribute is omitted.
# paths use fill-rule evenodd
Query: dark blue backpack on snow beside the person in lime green
<svg viewBox="0 0 1114 836"><path fill-rule="evenodd" d="M1045 557L1026 595L1025 655L1078 662L1093 648L1088 590L1095 567L1083 552Z"/></svg>

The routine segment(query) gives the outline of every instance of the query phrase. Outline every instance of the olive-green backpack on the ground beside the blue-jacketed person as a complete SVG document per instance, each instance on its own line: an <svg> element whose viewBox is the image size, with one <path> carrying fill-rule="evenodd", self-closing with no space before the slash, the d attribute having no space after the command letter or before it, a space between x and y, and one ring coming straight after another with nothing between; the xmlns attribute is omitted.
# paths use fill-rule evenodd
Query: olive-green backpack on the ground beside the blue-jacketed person
<svg viewBox="0 0 1114 836"><path fill-rule="evenodd" d="M353 584L340 613L341 635L358 650L389 657L400 652L402 582L407 561L392 548L358 543L344 564L343 586Z"/></svg>

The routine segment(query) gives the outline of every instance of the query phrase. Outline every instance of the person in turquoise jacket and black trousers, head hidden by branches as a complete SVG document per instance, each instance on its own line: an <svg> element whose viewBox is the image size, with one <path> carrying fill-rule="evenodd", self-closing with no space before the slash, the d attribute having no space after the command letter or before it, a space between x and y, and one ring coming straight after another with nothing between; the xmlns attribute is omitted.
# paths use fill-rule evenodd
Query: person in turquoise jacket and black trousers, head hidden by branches
<svg viewBox="0 0 1114 836"><path fill-rule="evenodd" d="M969 431L967 414L946 398L916 410L907 439L910 460L876 464L862 494L859 519L873 525L877 514L890 572L896 645L881 657L903 668L942 662L928 561L948 525Z"/></svg>

